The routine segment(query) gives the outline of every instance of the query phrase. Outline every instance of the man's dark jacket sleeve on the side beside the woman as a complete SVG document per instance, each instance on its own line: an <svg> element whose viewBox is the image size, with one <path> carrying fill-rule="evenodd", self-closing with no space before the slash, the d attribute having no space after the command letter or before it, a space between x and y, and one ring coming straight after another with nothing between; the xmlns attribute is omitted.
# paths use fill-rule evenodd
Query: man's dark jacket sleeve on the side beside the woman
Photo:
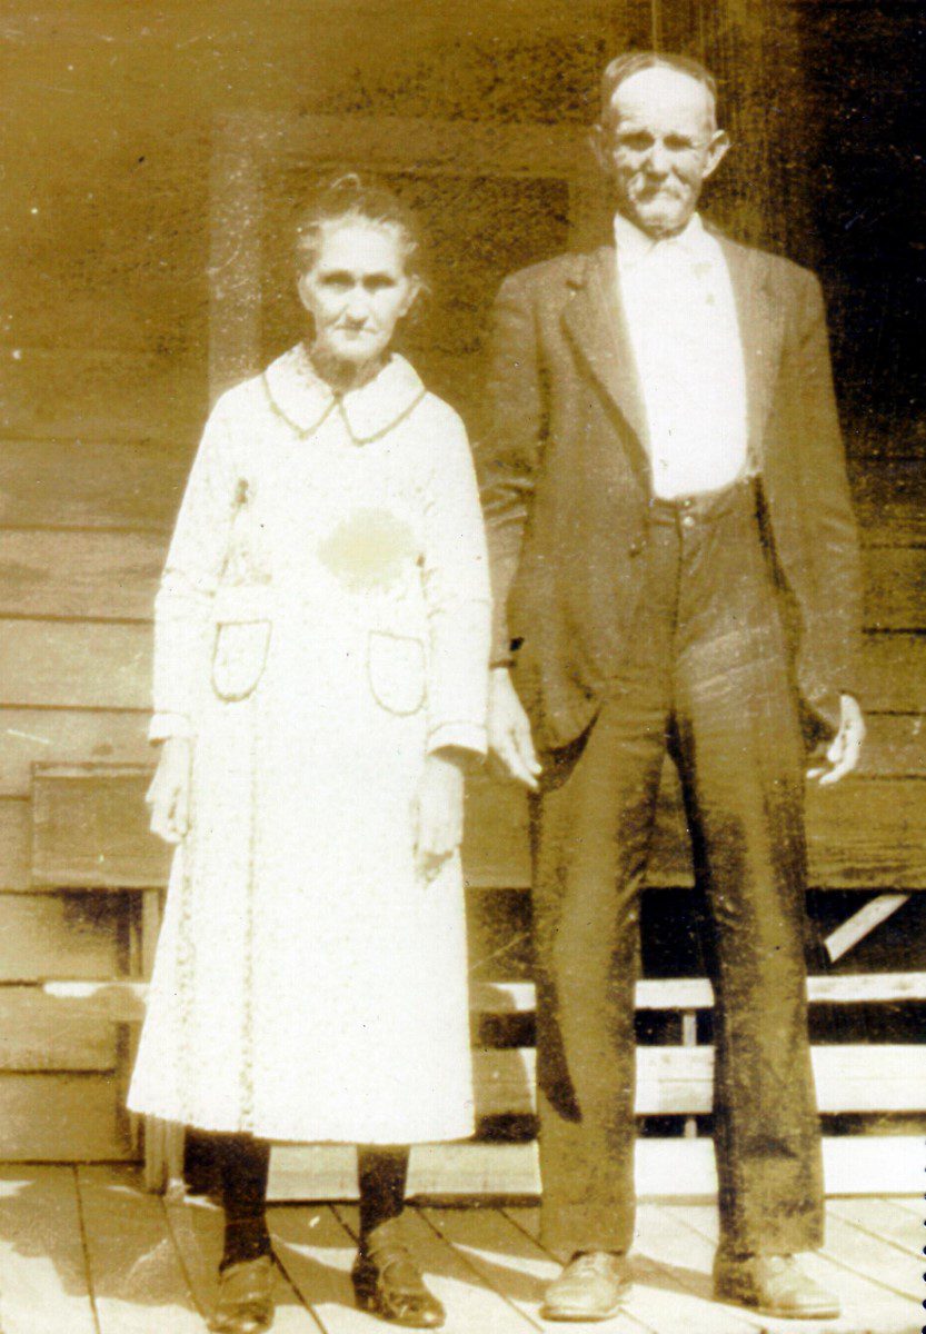
<svg viewBox="0 0 926 1334"><path fill-rule="evenodd" d="M495 301L475 446L492 582L494 666L511 662L508 591L520 556L543 434L535 315L523 275L514 273Z"/></svg>

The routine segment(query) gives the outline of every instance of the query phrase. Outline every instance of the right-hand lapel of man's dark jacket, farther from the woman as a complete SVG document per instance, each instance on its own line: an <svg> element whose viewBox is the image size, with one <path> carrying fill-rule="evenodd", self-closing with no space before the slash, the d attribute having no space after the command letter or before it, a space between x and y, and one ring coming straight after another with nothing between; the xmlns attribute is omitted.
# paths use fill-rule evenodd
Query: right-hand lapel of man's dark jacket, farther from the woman
<svg viewBox="0 0 926 1334"><path fill-rule="evenodd" d="M769 281L762 251L718 236L727 261L746 371L749 456L762 467L762 438L775 383L782 339L782 307Z"/></svg>

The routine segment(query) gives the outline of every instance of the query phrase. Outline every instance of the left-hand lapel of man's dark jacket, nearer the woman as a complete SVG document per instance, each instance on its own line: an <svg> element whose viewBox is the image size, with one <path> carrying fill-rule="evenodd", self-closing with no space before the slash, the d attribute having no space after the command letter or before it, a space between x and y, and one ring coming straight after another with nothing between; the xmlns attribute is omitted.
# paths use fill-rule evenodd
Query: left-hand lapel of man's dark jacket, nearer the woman
<svg viewBox="0 0 926 1334"><path fill-rule="evenodd" d="M584 271L571 281L574 295L563 320L588 370L630 426L631 435L624 438L627 451L648 488L646 408L627 321L618 300L614 248L602 245L590 255Z"/></svg>

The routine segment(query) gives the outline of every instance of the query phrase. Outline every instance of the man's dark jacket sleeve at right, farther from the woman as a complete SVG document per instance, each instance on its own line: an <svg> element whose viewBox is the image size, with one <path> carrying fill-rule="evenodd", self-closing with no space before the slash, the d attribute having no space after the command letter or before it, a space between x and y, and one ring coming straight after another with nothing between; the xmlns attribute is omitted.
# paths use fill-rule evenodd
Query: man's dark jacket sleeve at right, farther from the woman
<svg viewBox="0 0 926 1334"><path fill-rule="evenodd" d="M779 399L789 404L787 476L773 479L773 518L791 528L775 546L799 614L798 688L830 727L839 695L859 694L862 574L839 431L823 295L813 273L801 289L782 356ZM777 523L775 523L777 527Z"/></svg>

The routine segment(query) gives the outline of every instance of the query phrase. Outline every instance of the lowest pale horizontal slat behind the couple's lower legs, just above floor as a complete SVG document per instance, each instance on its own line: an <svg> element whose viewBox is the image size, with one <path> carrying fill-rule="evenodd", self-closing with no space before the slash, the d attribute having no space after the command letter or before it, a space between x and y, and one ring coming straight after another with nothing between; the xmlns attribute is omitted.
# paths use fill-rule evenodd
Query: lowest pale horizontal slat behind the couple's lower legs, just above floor
<svg viewBox="0 0 926 1334"><path fill-rule="evenodd" d="M638 1139L636 1194L640 1199L717 1194L710 1139ZM914 1191L922 1177L922 1135L823 1138L827 1194L897 1193L898 1209L922 1218ZM910 1198L905 1199L903 1193ZM416 1145L411 1153L408 1197L420 1199L536 1197L540 1193L536 1141ZM343 1145L275 1145L268 1198L356 1199L356 1155Z"/></svg>

